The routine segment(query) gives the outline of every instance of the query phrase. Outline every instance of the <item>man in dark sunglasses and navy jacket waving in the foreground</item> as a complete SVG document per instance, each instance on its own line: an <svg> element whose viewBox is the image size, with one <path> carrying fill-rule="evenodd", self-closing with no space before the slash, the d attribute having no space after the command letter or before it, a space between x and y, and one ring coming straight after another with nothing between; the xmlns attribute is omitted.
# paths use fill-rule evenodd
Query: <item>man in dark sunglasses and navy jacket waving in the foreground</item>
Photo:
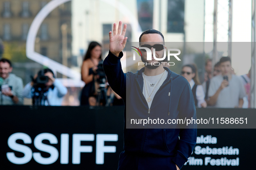
<svg viewBox="0 0 256 170"><path fill-rule="evenodd" d="M124 151L121 152L118 170L179 170L188 161L196 144L196 125L179 129L178 125L132 125L131 118L196 119L194 97L188 81L172 72L157 60L147 60L141 51L145 67L136 73L123 73L120 59L126 45L126 25L121 33L122 22L110 31L110 51L104 60L104 71L110 87L125 103ZM116 31L117 29L117 31ZM150 29L139 37L140 47L155 51L156 58L164 55L164 37ZM156 128L157 127L157 128Z"/></svg>

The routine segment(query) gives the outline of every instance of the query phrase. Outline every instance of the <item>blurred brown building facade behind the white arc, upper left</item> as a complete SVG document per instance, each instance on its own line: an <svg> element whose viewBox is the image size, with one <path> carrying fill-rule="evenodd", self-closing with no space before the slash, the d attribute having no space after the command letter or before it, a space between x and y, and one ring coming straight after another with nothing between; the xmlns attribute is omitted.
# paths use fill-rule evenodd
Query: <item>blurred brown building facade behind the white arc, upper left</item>
<svg viewBox="0 0 256 170"><path fill-rule="evenodd" d="M51 0L0 0L0 38L5 46L18 44L26 47L29 27L39 11ZM65 49L71 56L71 2L54 9L40 26L37 34L36 52L62 62L62 31L66 24L67 38ZM8 54L3 57L12 59ZM19 62L19 61L16 61Z"/></svg>

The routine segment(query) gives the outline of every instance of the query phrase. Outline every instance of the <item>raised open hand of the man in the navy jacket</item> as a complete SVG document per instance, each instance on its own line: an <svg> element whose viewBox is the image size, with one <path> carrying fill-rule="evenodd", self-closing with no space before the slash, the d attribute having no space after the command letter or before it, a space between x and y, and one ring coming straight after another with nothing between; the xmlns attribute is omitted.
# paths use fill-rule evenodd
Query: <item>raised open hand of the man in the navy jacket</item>
<svg viewBox="0 0 256 170"><path fill-rule="evenodd" d="M123 26L123 32L121 34L122 22L119 22L118 29L117 24L114 23L113 26L113 35L112 32L109 32L109 50L115 56L119 56L119 53L124 49L127 37L125 36L127 25Z"/></svg>

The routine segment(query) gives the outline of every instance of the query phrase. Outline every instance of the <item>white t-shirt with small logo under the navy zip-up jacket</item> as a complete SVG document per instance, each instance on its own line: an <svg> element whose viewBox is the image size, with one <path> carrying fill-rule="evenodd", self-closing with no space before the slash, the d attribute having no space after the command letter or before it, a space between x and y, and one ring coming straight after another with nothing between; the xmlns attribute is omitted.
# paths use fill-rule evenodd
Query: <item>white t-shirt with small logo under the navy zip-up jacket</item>
<svg viewBox="0 0 256 170"><path fill-rule="evenodd" d="M151 104L152 104L152 101L153 101L153 98L154 98L156 92L159 90L159 88L163 84L163 82L165 81L165 79L167 78L168 72L165 70L163 73L161 73L157 76L146 76L146 75L144 75L144 72L143 72L142 76L143 76L143 95L146 98L146 101L147 101L147 98L149 98L149 95L152 93L150 95L151 100L149 102L147 101L147 103L149 105L149 108L150 108ZM146 80L146 87L145 87L144 77L145 77L145 80ZM161 78L161 80L160 80L160 78Z"/></svg>

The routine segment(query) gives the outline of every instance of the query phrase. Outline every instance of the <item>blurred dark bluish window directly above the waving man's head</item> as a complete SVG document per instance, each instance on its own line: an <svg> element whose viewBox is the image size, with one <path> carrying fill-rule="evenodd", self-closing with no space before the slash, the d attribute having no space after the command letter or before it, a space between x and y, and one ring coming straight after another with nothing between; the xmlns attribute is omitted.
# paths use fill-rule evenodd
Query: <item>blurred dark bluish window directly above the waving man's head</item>
<svg viewBox="0 0 256 170"><path fill-rule="evenodd" d="M153 27L153 0L137 0L138 19L142 31Z"/></svg>

